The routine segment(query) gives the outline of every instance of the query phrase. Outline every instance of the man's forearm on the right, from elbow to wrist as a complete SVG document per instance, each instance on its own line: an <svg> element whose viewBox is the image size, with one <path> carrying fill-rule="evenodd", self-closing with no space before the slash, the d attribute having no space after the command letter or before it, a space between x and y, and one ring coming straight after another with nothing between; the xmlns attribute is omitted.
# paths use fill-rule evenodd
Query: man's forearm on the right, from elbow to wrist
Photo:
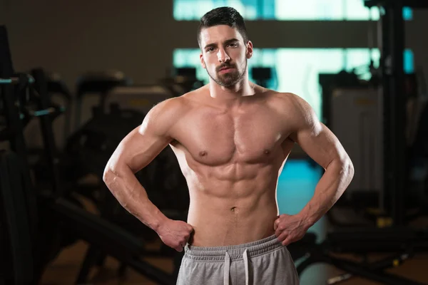
<svg viewBox="0 0 428 285"><path fill-rule="evenodd" d="M307 228L312 227L337 202L354 176L352 162L332 160L315 188L310 202L299 213Z"/></svg>

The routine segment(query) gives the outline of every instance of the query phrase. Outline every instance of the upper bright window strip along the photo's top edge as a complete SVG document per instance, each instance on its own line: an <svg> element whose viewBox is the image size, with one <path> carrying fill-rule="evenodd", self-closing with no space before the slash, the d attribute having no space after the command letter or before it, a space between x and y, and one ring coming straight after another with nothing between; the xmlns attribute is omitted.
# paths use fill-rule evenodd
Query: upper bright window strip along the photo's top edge
<svg viewBox="0 0 428 285"><path fill-rule="evenodd" d="M232 6L247 20L365 21L379 19L379 9L368 9L364 0L174 0L174 19L200 19L210 9ZM412 19L412 9L403 16Z"/></svg>

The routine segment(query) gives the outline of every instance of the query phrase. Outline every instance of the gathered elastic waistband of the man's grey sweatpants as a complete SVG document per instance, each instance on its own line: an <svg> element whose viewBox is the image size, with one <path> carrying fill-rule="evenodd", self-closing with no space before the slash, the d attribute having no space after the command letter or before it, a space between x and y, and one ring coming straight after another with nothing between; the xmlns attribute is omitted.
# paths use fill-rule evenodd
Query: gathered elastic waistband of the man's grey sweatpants
<svg viewBox="0 0 428 285"><path fill-rule="evenodd" d="M188 244L185 246L184 250L186 258L202 261L224 261L226 252L231 260L237 260L243 259L243 252L245 252L245 249L247 250L248 257L255 257L280 247L284 246L277 240L274 234L255 242L225 247L194 247Z"/></svg>

